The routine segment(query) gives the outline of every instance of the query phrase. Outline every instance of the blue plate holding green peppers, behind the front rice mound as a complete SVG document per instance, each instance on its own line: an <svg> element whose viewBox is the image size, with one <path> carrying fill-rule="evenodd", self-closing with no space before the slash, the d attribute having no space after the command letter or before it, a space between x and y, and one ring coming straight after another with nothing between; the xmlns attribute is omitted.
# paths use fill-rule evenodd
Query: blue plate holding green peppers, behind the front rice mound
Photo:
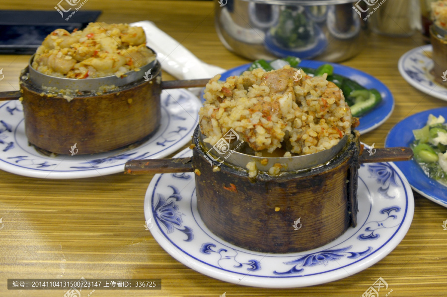
<svg viewBox="0 0 447 297"><path fill-rule="evenodd" d="M334 73L355 80L365 88L376 89L380 92L380 95L382 96L382 102L376 108L374 108L373 111L363 117L360 117L360 125L357 127L357 130L359 130L361 134L365 134L377 128L391 116L394 110L393 95L391 94L390 90L377 78L363 71L348 66L321 61L301 60L298 68L318 68L321 64L331 64L334 67ZM222 73L222 77L220 78L220 80L226 80L229 76L232 75L240 75L243 71L247 70L250 65L251 63L248 63L231 68ZM200 97L202 98L202 101L204 101L203 90Z"/></svg>

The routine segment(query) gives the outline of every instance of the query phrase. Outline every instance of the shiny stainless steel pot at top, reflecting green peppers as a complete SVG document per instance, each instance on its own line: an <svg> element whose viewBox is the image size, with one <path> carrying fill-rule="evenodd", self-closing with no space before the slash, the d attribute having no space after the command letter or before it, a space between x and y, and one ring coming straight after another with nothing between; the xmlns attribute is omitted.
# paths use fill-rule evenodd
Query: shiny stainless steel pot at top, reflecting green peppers
<svg viewBox="0 0 447 297"><path fill-rule="evenodd" d="M224 46L248 59L295 56L337 62L366 46L366 13L354 9L358 2L227 0L222 6L215 1L215 25Z"/></svg>

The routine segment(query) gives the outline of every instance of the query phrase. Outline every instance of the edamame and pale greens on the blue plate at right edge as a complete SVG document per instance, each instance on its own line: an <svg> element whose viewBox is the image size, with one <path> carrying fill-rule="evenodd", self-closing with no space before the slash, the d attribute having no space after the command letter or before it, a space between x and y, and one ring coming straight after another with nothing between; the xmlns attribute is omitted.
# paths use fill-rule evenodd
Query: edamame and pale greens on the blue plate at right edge
<svg viewBox="0 0 447 297"><path fill-rule="evenodd" d="M413 130L414 159L430 178L447 186L447 124L443 116L430 115L421 129Z"/></svg>

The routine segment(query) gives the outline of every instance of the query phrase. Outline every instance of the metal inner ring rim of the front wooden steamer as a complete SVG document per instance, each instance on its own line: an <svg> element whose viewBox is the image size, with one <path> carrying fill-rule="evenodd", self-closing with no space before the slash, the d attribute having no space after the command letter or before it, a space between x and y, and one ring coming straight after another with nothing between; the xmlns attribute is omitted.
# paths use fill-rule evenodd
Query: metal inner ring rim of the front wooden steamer
<svg viewBox="0 0 447 297"><path fill-rule="evenodd" d="M228 133L231 133L232 129L228 131L222 139L225 140L225 136ZM292 157L257 157L253 155L244 154L238 151L243 143L239 141L239 137L237 133L234 137L236 137L236 141L229 144L226 142L224 145L214 145L212 146L210 143L204 142L204 135L199 131L200 134L200 143L203 144L205 148L205 155L219 163L224 163L226 165L232 165L235 167L246 169L247 163L255 162L257 170L267 172L270 168L272 168L275 164L280 164L282 166L282 172L290 172L312 168L318 165L325 164L333 159L348 143L349 135L345 134L340 141L331 147L330 149L326 149L324 151L320 151L313 154L301 155L301 156L292 156ZM233 137L233 138L234 138ZM230 137L231 138L231 137ZM218 142L219 143L219 142ZM225 149L222 149L222 148ZM266 161L267 160L267 161Z"/></svg>

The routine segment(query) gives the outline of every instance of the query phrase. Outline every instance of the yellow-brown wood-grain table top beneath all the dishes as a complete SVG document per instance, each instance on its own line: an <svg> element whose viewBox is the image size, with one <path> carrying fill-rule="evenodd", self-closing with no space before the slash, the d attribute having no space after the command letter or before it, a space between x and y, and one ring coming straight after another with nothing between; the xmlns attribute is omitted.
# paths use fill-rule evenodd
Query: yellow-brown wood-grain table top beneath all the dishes
<svg viewBox="0 0 447 297"><path fill-rule="evenodd" d="M53 10L57 0L2 1L0 9ZM231 68L248 62L227 51L214 29L211 1L88 0L82 9L100 9L100 21L152 20L205 62ZM59 17L55 12L55 17ZM392 116L362 136L383 147L401 119L447 102L411 87L399 74L398 59L423 45L421 36L371 35L357 57L342 64L385 83L394 95ZM0 56L0 91L17 90L29 56ZM172 79L167 73L163 79ZM39 179L0 171L0 296L63 296L65 290L8 291L8 278L160 278L162 290L96 290L91 296L362 296L382 277L390 296L447 296L447 209L414 192L414 219L405 238L384 259L353 276L297 289L243 287L202 275L160 247L144 226L143 202L152 176L115 174L99 178ZM2 225L0 224L0 227ZM82 297L88 292L83 292ZM380 296L384 296L381 293Z"/></svg>

